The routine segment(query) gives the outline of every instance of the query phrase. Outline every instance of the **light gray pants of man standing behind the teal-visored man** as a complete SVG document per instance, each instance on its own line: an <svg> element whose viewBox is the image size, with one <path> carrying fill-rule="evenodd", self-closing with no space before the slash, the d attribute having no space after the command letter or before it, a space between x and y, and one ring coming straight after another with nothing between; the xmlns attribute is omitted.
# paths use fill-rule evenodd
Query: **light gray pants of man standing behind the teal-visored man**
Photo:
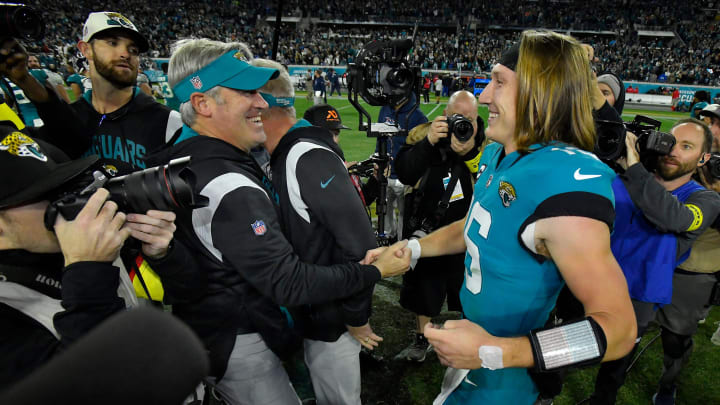
<svg viewBox="0 0 720 405"><path fill-rule="evenodd" d="M360 343L345 332L335 342L305 339L304 346L318 405L360 405Z"/></svg>

